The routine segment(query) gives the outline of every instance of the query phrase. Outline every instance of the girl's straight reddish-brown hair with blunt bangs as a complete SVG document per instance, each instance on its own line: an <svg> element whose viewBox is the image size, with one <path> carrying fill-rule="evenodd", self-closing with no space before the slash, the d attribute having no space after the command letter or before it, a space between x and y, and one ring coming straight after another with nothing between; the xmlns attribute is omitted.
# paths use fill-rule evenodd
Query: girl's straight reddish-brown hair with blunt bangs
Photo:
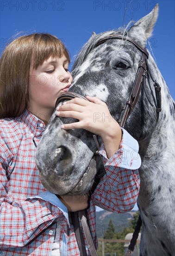
<svg viewBox="0 0 175 256"><path fill-rule="evenodd" d="M19 116L29 107L28 80L31 60L37 69L50 56L70 62L63 43L51 34L30 34L13 40L0 58L0 118Z"/></svg>

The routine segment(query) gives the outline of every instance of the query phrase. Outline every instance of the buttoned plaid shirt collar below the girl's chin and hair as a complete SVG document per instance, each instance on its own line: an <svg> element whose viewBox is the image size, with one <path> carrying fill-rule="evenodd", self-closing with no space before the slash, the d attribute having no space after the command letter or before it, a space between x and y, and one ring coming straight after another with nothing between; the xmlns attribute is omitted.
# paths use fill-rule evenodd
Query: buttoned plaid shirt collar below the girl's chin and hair
<svg viewBox="0 0 175 256"><path fill-rule="evenodd" d="M19 115L17 120L19 122L23 122L33 135L36 135L38 129L40 132L45 130L44 121L31 114L31 112L27 109L25 109L24 112Z"/></svg>

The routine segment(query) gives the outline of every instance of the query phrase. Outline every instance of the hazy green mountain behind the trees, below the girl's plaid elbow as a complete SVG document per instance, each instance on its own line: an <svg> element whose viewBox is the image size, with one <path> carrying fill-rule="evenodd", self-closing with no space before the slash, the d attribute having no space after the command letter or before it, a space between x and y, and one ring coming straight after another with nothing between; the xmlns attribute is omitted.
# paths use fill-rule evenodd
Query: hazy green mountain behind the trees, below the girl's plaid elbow
<svg viewBox="0 0 175 256"><path fill-rule="evenodd" d="M110 219L113 221L115 232L119 233L123 229L129 227L129 220L131 220L136 211L127 213L112 213L105 210L96 212L96 233L98 238L103 238L105 231L108 229Z"/></svg>

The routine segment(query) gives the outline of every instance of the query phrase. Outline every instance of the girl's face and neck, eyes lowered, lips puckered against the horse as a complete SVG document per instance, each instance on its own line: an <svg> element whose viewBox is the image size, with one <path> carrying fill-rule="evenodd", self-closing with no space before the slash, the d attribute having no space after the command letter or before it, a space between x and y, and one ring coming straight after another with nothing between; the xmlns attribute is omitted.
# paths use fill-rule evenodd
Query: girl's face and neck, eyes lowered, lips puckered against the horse
<svg viewBox="0 0 175 256"><path fill-rule="evenodd" d="M55 108L56 99L60 94L66 92L72 83L68 64L69 61L63 55L61 58L51 56L37 69L33 69L31 65L29 77L30 107L28 108L31 113L37 116L41 116L43 113L50 118Z"/></svg>

